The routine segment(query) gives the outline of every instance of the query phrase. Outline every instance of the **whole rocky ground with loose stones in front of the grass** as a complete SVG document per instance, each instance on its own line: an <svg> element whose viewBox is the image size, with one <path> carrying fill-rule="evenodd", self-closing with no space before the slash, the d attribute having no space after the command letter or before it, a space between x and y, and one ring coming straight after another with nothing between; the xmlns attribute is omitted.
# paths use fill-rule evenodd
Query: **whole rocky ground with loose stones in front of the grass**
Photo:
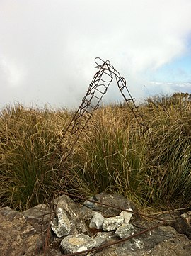
<svg viewBox="0 0 191 256"><path fill-rule="evenodd" d="M54 206L0 208L0 255L191 255L191 211L149 218L124 196L104 193L83 204L59 196Z"/></svg>

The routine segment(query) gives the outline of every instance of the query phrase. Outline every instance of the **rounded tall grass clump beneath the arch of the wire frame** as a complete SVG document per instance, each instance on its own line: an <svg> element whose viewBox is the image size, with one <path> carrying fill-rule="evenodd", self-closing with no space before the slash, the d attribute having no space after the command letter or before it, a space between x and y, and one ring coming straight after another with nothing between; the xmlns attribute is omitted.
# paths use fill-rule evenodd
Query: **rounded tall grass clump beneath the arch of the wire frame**
<svg viewBox="0 0 191 256"><path fill-rule="evenodd" d="M73 156L76 166L70 172L71 186L89 194L108 190L128 196L134 196L136 191L139 194L146 145L134 126L128 109L100 108Z"/></svg>

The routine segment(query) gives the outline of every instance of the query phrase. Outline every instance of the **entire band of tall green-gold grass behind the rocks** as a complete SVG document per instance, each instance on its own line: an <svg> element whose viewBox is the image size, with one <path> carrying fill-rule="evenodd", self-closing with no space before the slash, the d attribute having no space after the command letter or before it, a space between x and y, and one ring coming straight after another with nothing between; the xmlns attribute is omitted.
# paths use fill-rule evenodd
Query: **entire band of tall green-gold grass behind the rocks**
<svg viewBox="0 0 191 256"><path fill-rule="evenodd" d="M189 96L146 99L139 108L149 126L144 138L125 104L99 108L64 162L60 139L72 111L7 106L0 113L0 206L23 210L59 191L112 191L139 207L190 206Z"/></svg>

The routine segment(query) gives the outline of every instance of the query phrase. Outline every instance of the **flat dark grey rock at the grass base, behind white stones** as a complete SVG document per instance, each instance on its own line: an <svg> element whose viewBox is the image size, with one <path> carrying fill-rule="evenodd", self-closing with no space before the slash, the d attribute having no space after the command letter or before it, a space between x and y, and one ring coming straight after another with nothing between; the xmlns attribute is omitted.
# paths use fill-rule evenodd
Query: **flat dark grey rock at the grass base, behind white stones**
<svg viewBox="0 0 191 256"><path fill-rule="evenodd" d="M120 194L108 194L103 192L91 197L90 199L95 202L93 203L91 201L86 200L83 203L83 205L87 206L88 208L91 208L93 211L99 211L103 213L103 216L105 217L119 215L121 210L118 208L125 208L125 209L132 208L133 210L136 210L136 207L134 206L134 204L132 204L131 201L125 198L125 196L122 196ZM110 206L117 206L118 208L104 206L104 205L98 204L98 202L103 204L108 204Z"/></svg>

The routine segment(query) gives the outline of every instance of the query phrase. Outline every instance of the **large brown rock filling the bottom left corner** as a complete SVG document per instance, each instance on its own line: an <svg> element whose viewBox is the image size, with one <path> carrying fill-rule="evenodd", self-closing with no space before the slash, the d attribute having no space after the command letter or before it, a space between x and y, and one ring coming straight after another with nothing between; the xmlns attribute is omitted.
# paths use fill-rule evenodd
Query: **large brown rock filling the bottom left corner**
<svg viewBox="0 0 191 256"><path fill-rule="evenodd" d="M1 208L0 255L35 255L42 247L41 234L31 226L22 213Z"/></svg>

